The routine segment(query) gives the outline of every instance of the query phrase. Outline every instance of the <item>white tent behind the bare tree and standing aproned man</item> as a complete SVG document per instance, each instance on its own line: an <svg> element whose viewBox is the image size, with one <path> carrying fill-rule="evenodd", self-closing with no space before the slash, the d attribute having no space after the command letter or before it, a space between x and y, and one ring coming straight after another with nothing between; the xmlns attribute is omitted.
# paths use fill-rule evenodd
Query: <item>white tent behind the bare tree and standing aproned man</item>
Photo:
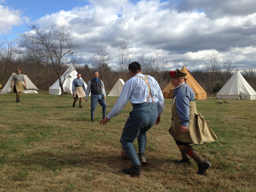
<svg viewBox="0 0 256 192"><path fill-rule="evenodd" d="M64 78L65 78L65 80L64 80ZM69 67L65 71L65 73L60 77L61 81L62 82L64 81L64 83L63 83L64 92L68 93L69 95L72 95L72 83L75 78L77 78L77 71L73 66ZM81 79L82 79L82 77L81 77ZM83 81L83 82L85 83L85 81ZM85 83L85 88L87 88L86 83ZM57 80L49 88L49 95L61 95L59 80Z"/></svg>

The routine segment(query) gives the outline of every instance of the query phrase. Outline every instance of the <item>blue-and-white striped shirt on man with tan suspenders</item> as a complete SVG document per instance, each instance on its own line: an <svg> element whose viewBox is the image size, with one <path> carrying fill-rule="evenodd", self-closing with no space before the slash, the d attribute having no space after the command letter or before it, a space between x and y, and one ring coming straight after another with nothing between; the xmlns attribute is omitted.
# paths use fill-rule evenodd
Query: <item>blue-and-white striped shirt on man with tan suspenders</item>
<svg viewBox="0 0 256 192"><path fill-rule="evenodd" d="M145 75L137 74L135 77L132 77L126 81L116 104L107 116L108 119L116 117L122 111L128 100L130 100L130 102L133 104L147 102L149 94L147 83L142 78L136 76L145 78ZM164 107L162 91L154 77L148 75L148 83L150 84L154 103L157 103L157 111L158 115L160 116ZM152 102L151 96L148 102Z"/></svg>

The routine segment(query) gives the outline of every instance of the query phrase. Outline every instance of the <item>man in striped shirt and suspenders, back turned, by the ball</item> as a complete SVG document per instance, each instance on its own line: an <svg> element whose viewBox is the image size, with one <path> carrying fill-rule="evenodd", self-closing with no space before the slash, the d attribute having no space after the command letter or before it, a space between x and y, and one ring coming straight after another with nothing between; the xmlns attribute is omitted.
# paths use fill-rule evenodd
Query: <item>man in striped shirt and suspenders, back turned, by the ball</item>
<svg viewBox="0 0 256 192"><path fill-rule="evenodd" d="M163 112L163 94L157 81L149 76L143 75L140 64L133 62L128 67L130 80L123 86L120 97L108 116L100 121L106 124L112 117L116 117L130 100L133 111L127 118L120 138L122 148L131 160L130 169L123 169L125 174L137 176L142 175L141 164L149 164L145 157L147 143L146 132L154 125L160 123L160 115ZM133 142L138 141L139 158L134 148Z"/></svg>

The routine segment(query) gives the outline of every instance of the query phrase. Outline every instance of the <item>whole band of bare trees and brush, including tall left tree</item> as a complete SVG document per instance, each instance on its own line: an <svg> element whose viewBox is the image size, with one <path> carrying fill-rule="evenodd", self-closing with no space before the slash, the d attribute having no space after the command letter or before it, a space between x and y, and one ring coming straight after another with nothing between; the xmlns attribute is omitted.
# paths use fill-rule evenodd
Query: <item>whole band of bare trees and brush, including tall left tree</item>
<svg viewBox="0 0 256 192"><path fill-rule="evenodd" d="M20 35L17 45L6 38L0 41L0 84L5 83L17 68L21 68L22 74L28 75L40 91L48 91L56 80L60 80L69 64L76 68L86 83L93 78L93 71L99 71L99 78L104 82L106 91L111 91L119 78L124 81L130 78L128 65L137 61L142 67L142 73L156 78L163 89L170 83L167 72L176 69L168 68L168 60L159 53L131 56L126 41L116 44L114 55L109 54L105 47L94 45L96 54L89 63L79 64L82 58L76 57L76 51L84 46L76 40L72 28L66 23L53 23L49 27L31 25L30 30ZM237 69L229 58L220 61L214 52L208 55L208 62L202 66L203 69L190 71L190 74L208 95L216 94ZM256 67L247 65L241 74L255 90Z"/></svg>

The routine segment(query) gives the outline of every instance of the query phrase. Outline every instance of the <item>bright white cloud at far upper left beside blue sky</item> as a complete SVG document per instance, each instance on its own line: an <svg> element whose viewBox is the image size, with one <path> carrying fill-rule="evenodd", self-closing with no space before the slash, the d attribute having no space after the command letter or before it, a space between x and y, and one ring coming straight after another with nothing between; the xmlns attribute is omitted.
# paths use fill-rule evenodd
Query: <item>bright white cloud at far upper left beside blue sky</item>
<svg viewBox="0 0 256 192"><path fill-rule="evenodd" d="M0 34L11 33L12 26L19 26L23 23L20 10L0 5L0 13Z"/></svg>

